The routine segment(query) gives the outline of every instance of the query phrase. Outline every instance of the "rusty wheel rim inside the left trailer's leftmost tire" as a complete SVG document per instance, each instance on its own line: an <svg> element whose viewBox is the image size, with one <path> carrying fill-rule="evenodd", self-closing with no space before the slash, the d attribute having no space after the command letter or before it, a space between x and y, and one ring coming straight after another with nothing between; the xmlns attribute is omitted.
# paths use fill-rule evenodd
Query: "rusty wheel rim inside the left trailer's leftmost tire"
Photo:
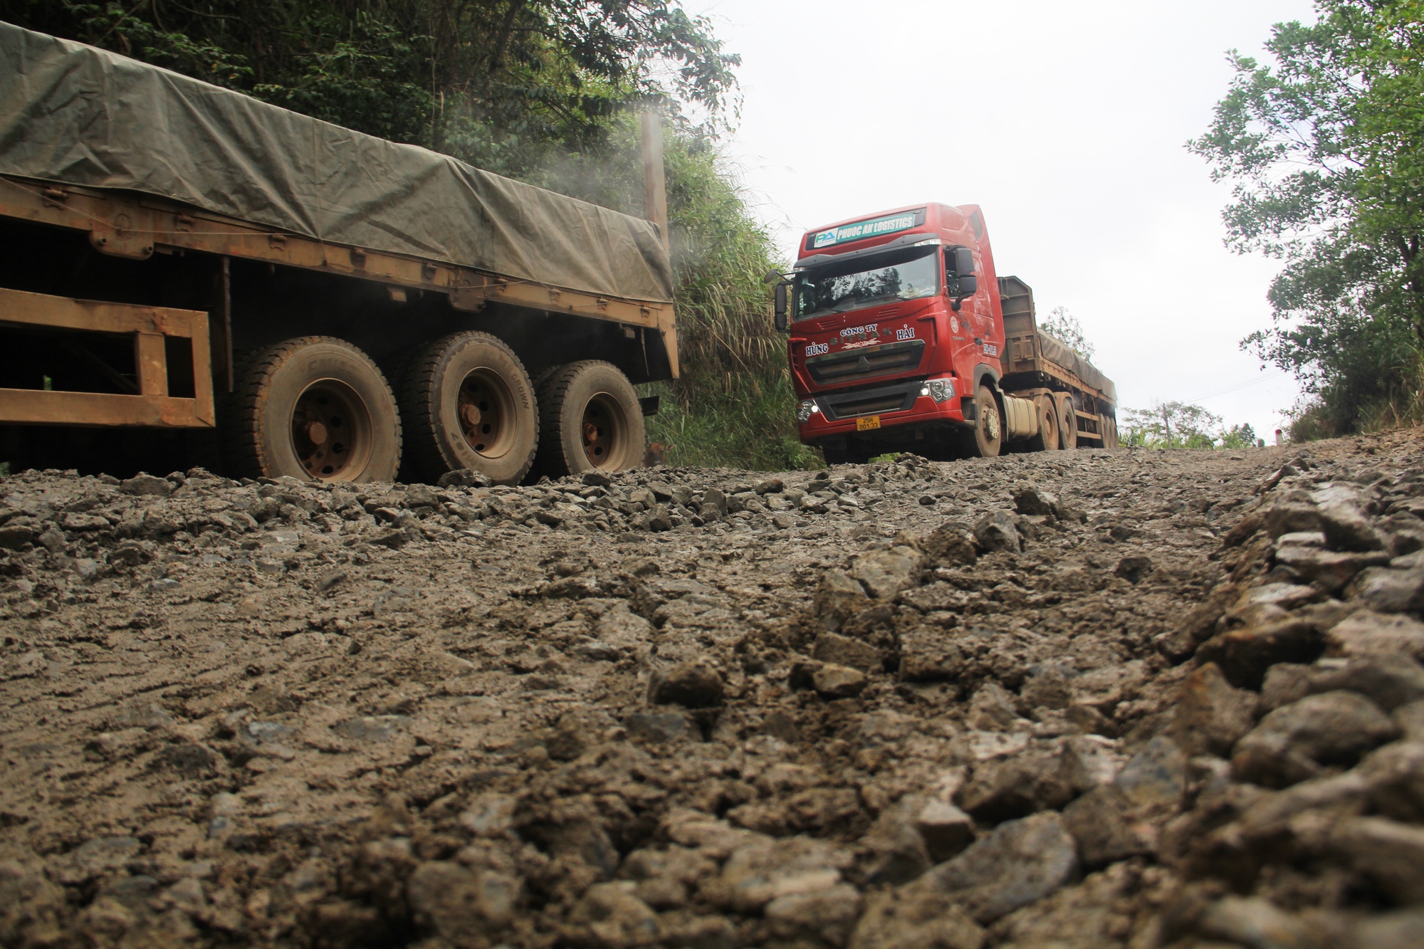
<svg viewBox="0 0 1424 949"><path fill-rule="evenodd" d="M318 379L296 398L292 447L312 479L352 480L370 460L370 409L340 379Z"/></svg>

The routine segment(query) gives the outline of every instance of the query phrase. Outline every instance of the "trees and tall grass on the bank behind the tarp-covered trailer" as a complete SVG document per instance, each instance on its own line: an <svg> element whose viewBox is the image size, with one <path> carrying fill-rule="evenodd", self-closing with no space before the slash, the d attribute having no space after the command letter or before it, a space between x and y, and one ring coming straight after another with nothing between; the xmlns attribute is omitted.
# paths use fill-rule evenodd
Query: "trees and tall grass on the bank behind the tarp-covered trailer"
<svg viewBox="0 0 1424 949"><path fill-rule="evenodd" d="M0 19L644 214L637 115L664 118L682 378L669 465L819 467L800 445L775 247L719 151L740 60L676 0L0 0Z"/></svg>

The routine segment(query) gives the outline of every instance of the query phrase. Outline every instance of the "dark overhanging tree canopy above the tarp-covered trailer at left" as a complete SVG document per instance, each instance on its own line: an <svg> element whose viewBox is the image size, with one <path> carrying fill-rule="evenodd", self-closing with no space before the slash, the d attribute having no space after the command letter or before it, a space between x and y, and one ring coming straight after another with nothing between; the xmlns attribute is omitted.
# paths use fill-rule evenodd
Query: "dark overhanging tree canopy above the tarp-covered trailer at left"
<svg viewBox="0 0 1424 949"><path fill-rule="evenodd" d="M715 127L740 61L675 0L0 0L0 19L513 177L605 148L632 108Z"/></svg>

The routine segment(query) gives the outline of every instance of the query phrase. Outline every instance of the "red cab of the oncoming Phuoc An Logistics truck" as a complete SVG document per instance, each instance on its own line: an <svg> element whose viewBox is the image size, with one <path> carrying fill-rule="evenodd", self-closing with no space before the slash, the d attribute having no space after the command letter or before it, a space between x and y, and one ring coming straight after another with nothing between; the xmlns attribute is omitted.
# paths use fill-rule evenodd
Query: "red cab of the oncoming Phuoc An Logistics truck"
<svg viewBox="0 0 1424 949"><path fill-rule="evenodd" d="M975 205L920 204L809 231L787 284L803 442L965 425L980 379L998 378L1004 319Z"/></svg>

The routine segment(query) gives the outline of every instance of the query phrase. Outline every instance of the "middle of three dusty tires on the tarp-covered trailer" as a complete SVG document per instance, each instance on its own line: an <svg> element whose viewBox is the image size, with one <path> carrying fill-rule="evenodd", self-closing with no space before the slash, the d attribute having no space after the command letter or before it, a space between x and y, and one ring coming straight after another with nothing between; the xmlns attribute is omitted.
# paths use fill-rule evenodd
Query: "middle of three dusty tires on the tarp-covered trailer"
<svg viewBox="0 0 1424 949"><path fill-rule="evenodd" d="M538 449L538 409L524 363L508 345L463 332L419 349L400 382L407 480L434 483L470 469L518 484Z"/></svg>

